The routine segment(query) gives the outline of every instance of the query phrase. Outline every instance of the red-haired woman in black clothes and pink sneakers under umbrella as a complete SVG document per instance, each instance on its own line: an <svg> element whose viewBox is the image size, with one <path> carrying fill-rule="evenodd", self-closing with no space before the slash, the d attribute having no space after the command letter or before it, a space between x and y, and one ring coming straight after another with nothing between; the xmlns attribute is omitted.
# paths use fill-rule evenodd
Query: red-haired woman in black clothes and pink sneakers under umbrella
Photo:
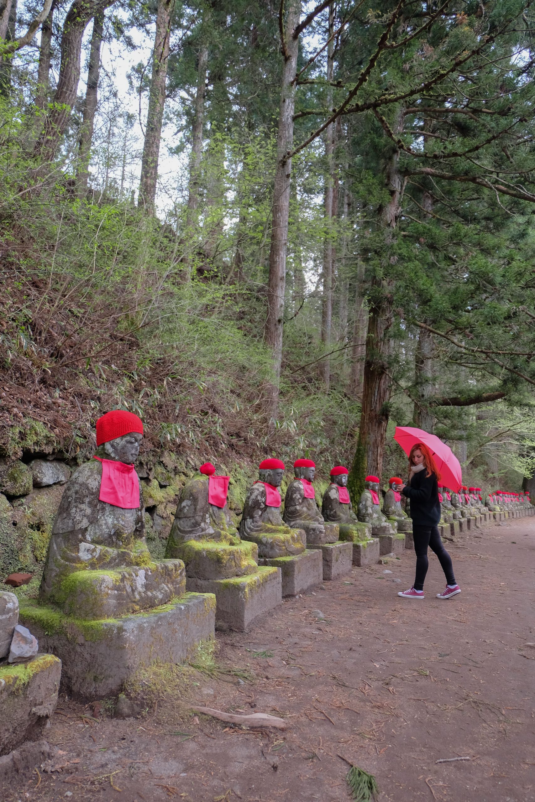
<svg viewBox="0 0 535 802"><path fill-rule="evenodd" d="M424 581L428 573L428 546L439 558L440 565L446 574L446 589L437 593L440 599L449 599L460 593L460 587L453 575L452 558L449 556L440 539L437 524L440 521L440 501L438 472L432 453L423 443L417 443L409 454L411 469L407 484L403 484L401 492L411 500L412 537L416 553L416 576L414 585L408 590L398 593L407 599L424 598Z"/></svg>

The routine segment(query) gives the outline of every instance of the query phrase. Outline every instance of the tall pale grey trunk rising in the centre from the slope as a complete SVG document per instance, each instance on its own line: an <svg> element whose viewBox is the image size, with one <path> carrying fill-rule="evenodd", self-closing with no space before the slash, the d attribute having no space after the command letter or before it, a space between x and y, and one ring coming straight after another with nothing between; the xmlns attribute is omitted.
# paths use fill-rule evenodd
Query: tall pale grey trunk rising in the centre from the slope
<svg viewBox="0 0 535 802"><path fill-rule="evenodd" d="M282 363L282 323L286 288L286 249L288 247L288 217L290 215L291 160L287 158L294 142L294 107L296 67L299 38L294 30L301 16L301 0L290 0L286 18L286 55L282 68L281 105L278 118L277 166L275 168L273 211L271 216L270 276L267 288L267 318L265 342L271 349L274 363L274 382L267 387L267 411L270 426L278 415L278 390Z"/></svg>

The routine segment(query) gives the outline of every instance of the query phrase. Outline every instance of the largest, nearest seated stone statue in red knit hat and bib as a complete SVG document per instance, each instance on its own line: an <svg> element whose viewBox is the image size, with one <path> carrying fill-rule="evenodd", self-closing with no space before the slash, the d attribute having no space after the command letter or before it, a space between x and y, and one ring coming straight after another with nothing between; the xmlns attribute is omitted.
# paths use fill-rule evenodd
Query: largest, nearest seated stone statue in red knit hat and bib
<svg viewBox="0 0 535 802"><path fill-rule="evenodd" d="M134 463L143 423L124 410L96 423L95 458L67 482L52 527L40 599L79 618L114 618L184 593L184 564L154 562Z"/></svg>

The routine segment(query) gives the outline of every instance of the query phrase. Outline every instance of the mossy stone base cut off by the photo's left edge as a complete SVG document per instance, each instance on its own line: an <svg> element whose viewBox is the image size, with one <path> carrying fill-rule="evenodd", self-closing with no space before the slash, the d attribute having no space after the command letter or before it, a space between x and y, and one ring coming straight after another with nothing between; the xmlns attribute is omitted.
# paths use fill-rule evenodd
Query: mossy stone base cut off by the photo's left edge
<svg viewBox="0 0 535 802"><path fill-rule="evenodd" d="M0 666L0 755L41 737L58 701L60 676L61 660L53 654Z"/></svg>

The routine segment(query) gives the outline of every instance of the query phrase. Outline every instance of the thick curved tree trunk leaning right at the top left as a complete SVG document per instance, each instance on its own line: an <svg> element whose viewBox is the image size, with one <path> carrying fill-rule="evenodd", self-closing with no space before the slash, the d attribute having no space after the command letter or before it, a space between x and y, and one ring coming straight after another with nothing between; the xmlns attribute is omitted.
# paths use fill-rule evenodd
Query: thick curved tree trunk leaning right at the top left
<svg viewBox="0 0 535 802"><path fill-rule="evenodd" d="M114 0L75 0L67 11L61 37L61 62L54 104L44 115L43 130L34 146L34 156L51 161L59 147L75 105L80 79L83 32L87 23L101 14Z"/></svg>

